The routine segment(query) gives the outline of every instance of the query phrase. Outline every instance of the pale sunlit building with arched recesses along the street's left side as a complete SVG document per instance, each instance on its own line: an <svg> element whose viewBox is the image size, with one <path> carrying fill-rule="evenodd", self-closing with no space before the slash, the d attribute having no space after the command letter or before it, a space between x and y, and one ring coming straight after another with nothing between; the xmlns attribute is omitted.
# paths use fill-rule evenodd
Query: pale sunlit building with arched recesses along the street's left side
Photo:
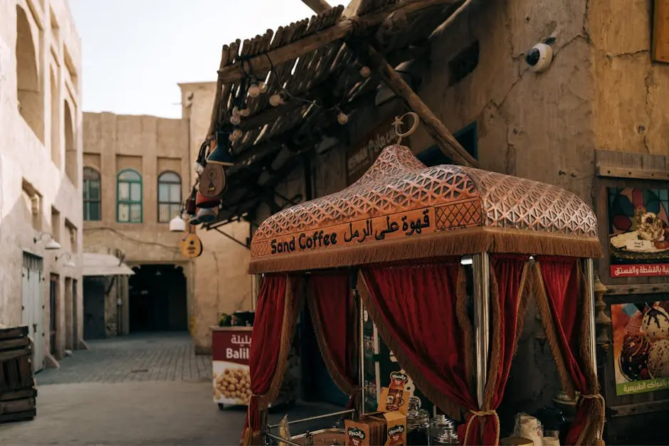
<svg viewBox="0 0 669 446"><path fill-rule="evenodd" d="M80 49L67 1L0 2L0 323L36 370L82 339Z"/></svg>

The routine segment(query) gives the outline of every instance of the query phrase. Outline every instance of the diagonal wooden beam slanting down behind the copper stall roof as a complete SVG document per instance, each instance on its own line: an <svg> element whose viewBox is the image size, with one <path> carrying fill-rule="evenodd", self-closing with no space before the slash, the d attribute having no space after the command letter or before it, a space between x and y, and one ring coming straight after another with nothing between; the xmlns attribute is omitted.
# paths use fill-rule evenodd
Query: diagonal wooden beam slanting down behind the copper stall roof
<svg viewBox="0 0 669 446"><path fill-rule="evenodd" d="M404 82L404 79L395 71L386 59L376 51L371 45L362 44L360 50L369 58L372 68L378 71L381 79L393 92L402 98L409 110L416 112L426 125L427 131L437 142L441 152L453 159L453 161L465 166L480 167L480 164L460 145L453 134L448 131L446 126L434 115L432 110L425 105L425 102L416 95L411 87Z"/></svg>

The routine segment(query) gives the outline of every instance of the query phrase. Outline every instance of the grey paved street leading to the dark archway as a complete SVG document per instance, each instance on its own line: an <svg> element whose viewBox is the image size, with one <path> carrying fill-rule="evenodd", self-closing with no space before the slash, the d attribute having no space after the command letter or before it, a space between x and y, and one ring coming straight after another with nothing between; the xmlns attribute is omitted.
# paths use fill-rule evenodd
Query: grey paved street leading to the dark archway
<svg viewBox="0 0 669 446"><path fill-rule="evenodd" d="M37 375L37 417L0 425L2 445L233 445L243 409L211 400L211 361L186 334L92 341ZM327 410L297 405L290 419ZM277 423L283 412L270 415ZM297 430L293 430L297 433Z"/></svg>

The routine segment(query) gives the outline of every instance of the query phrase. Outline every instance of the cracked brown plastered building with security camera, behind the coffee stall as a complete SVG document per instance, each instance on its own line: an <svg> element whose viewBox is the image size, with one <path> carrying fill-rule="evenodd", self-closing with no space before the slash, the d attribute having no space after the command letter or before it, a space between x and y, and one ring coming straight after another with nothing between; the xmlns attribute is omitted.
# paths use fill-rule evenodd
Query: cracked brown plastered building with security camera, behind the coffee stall
<svg viewBox="0 0 669 446"><path fill-rule="evenodd" d="M353 14L356 3L361 2L353 1L344 14ZM437 28L420 43L422 54L416 48L404 48L416 57L399 60L411 59L410 63L394 65L406 73L405 79L413 90L455 134L460 144L478 159L483 169L560 186L594 207L605 253L599 260L599 280L608 288L603 301L605 311L597 318L598 373L602 394L611 409L609 415L615 417L609 418L606 435L611 442L619 444L630 444L632 440L646 444L658 441L658 437L653 437L654 430L641 432L631 426L639 423L646 426L645 423L650 425L653 420L661 420L669 407L667 390L635 395L617 393L614 372L617 359L613 357L616 350L611 347L613 335L606 323L606 314L611 314L613 305L662 301L669 293L666 277L615 277L609 272L607 200L611 197L607 196L607 188L669 189L669 149L665 144L669 105L661 100L669 91L669 65L651 60L651 36L658 32L653 31L653 22L663 20L663 17L653 16L652 3L645 0L539 3L474 0L456 18L448 20L446 26ZM372 15L369 10L365 14ZM658 14L661 15L655 11L655 15ZM402 23L401 20L399 16L398 23ZM390 23L392 26L392 21ZM391 48L384 54L390 58L394 49L401 53L394 47L396 41L401 41L399 35L416 32L416 27L411 23L398 25L396 36L385 36L381 31L374 34L376 44L387 43ZM539 43L549 45L553 54L552 63L543 72L532 70L527 62L528 53ZM325 45L324 42L322 48ZM310 51L300 53L300 63L312 60L312 55ZM278 56L272 51L260 54L258 63L270 57ZM249 66L256 62L253 57L247 59ZM364 60L352 63L350 70L342 73L359 70L364 63ZM278 66L279 62L275 60L274 65ZM260 70L256 68L256 71ZM228 70L226 75L232 79L233 70ZM299 76L281 80L284 85L295 86L291 95L318 97L322 102L332 103L327 92L318 90L320 85L300 90L300 85L308 85L304 79L309 75L300 73ZM332 81L329 87L336 85L332 78L326 79ZM363 171L366 168L364 163L357 165L359 159L354 155L359 151L376 150L378 142L388 133L394 115L407 111L401 100L388 99L392 94L381 94L385 90L381 85L374 91L376 95L372 92L356 99L355 107L348 110L344 102L342 109L348 115L344 128L337 127L336 113L330 113L329 117L327 112L312 113L307 120L311 120L310 127L317 129L318 134L314 139L305 137L303 140L315 147L312 150L292 148L294 153L304 156L304 161L283 171L275 190L282 196L309 199L351 184L358 172L350 168L357 166ZM296 109L288 99L285 102L280 105L286 110L283 114L268 112L260 106L258 116L278 120L281 115L288 115L288 110ZM297 110L303 109L297 107ZM330 123L324 123L326 117ZM251 119L254 123L262 121L256 112L251 113ZM225 121L219 124L214 121L218 127L223 126L221 123ZM259 127L262 124L265 122ZM294 125L291 121L283 128L290 127L291 134L309 133L301 124ZM256 132L255 125L249 124L244 129L247 131ZM244 166L246 171L268 170L267 165L262 166L265 159L270 159L272 169L283 169L280 163L271 161L270 154L278 153L276 158L282 159L282 154L291 152L290 145L295 141L291 142L282 132L266 139L273 139L278 147L275 152L265 146L248 149L245 144L237 144L238 156L243 158L244 150L255 156L255 159L247 156L251 161ZM405 139L404 144L426 164L451 161L436 147L424 124ZM284 166L290 167L288 163ZM239 171L236 175L243 176ZM236 179L228 178L231 182ZM238 187L251 186L239 184ZM225 199L233 201L242 195L228 189ZM658 195L663 196L663 193ZM661 200L664 200L662 206L668 206L665 198ZM243 208L244 203L240 206ZM275 212L264 203L253 206L254 224ZM233 214L230 217L233 218ZM507 389L500 408L505 426L512 425L512 417L518 410L532 413L542 406L552 405L560 391L546 339L532 309L527 314Z"/></svg>

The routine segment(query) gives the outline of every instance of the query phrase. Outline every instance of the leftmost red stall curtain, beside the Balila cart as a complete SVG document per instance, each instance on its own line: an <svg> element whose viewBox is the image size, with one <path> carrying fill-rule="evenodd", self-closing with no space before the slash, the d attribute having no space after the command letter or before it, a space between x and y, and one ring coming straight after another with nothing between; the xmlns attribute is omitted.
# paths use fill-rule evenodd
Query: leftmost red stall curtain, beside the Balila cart
<svg viewBox="0 0 669 446"><path fill-rule="evenodd" d="M260 430L260 410L265 409L267 403L260 398L270 393L278 373L287 286L288 277L285 275L266 275L260 285L249 351L253 395L244 421L245 443L251 440L248 436L251 432ZM251 432L247 432L249 427Z"/></svg>

